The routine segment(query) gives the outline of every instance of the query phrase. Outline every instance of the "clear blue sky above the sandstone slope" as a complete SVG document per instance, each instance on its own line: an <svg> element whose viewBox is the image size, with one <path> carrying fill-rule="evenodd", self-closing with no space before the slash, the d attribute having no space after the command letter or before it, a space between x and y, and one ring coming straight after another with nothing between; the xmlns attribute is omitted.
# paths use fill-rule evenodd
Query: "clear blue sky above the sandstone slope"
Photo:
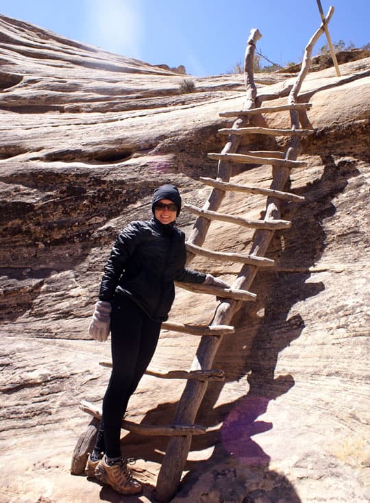
<svg viewBox="0 0 370 503"><path fill-rule="evenodd" d="M370 42L370 0L321 4L325 14L335 8L333 42ZM321 22L316 0L0 0L0 13L150 64L184 64L199 76L231 71L255 27L269 60L300 61ZM322 36L314 54L325 43Z"/></svg>

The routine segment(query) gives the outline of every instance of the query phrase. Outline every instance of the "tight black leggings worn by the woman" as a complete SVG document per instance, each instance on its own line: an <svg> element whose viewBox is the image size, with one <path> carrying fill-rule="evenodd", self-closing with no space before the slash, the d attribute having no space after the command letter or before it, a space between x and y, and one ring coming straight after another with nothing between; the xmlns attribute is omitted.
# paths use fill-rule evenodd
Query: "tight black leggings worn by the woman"
<svg viewBox="0 0 370 503"><path fill-rule="evenodd" d="M132 300L115 295L110 315L112 373L103 399L103 418L95 452L121 456L121 421L158 343L161 323L152 321Z"/></svg>

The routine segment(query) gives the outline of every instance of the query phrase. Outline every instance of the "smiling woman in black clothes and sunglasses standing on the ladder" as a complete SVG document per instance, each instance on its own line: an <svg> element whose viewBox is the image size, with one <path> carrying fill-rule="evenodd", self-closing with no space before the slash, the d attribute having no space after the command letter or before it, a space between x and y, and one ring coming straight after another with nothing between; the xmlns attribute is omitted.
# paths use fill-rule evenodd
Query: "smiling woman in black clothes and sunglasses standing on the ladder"
<svg viewBox="0 0 370 503"><path fill-rule="evenodd" d="M111 331L112 374L86 474L121 494L142 490L121 457L121 421L156 349L161 323L168 318L175 298L173 281L228 287L210 274L186 269L185 235L175 227L181 202L175 186L160 186L153 194L151 220L133 221L120 232L89 328L98 341L106 341Z"/></svg>

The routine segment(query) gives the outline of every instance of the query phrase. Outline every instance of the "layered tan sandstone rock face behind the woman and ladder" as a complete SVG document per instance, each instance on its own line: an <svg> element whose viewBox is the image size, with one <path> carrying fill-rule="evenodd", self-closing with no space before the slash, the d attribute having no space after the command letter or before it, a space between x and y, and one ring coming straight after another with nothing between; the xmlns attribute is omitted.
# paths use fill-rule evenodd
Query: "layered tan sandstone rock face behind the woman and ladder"
<svg viewBox="0 0 370 503"><path fill-rule="evenodd" d="M73 448L89 418L78 404L101 403L109 378L99 361L109 343L87 328L116 233L146 219L153 188L180 187L201 206L221 151L219 112L243 107L239 75L190 77L0 16L1 476L0 502L123 501L93 480L71 476ZM247 34L246 34L247 39ZM243 48L240 48L243 50ZM256 75L258 93L279 97L291 75ZM307 169L291 173L289 230L275 232L243 305L225 336L197 422L176 503L367 502L369 493L369 109L370 58L308 75L312 109L303 141ZM266 104L266 103L265 103ZM302 118L304 120L304 118ZM288 127L287 114L268 117ZM286 140L253 136L251 149ZM232 181L268 187L271 167L235 166ZM260 218L264 200L225 196L222 210ZM179 225L190 233L194 217ZM212 222L206 247L249 251L253 233ZM232 280L240 266L198 257L191 267ZM209 323L213 297L177 291L171 319ZM163 330L151 367L188 369L199 340ZM183 382L145 376L127 419L171 424ZM166 440L124 434L152 490Z"/></svg>

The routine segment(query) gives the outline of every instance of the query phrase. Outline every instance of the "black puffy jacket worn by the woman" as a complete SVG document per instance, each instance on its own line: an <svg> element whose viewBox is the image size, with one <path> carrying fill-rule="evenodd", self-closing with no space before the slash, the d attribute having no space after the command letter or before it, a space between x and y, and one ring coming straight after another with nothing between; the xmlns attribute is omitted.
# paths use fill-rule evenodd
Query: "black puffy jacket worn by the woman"
<svg viewBox="0 0 370 503"><path fill-rule="evenodd" d="M155 218L123 229L104 267L99 299L130 297L154 321L165 321L175 299L174 280L203 283L206 274L185 268L185 234Z"/></svg>

